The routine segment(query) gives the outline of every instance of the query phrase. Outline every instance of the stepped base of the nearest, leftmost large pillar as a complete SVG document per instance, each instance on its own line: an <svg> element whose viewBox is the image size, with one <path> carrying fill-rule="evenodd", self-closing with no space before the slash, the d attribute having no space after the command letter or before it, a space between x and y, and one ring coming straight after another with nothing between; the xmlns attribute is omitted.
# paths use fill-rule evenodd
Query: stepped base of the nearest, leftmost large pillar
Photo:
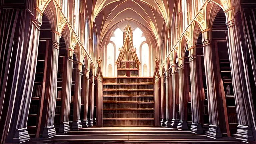
<svg viewBox="0 0 256 144"><path fill-rule="evenodd" d="M27 127L25 127L25 128L16 130L12 142L13 143L21 143L21 142L27 141L29 139L30 139L30 137L28 134L28 129L27 129Z"/></svg>

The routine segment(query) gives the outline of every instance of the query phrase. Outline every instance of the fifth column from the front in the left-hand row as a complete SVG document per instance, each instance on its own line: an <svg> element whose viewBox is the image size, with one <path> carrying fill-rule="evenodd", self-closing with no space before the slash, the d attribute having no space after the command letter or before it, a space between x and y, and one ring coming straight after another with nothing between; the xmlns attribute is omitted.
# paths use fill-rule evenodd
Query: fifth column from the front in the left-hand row
<svg viewBox="0 0 256 144"><path fill-rule="evenodd" d="M85 77L84 81L82 81L82 83L83 83L82 97L84 100L84 119L82 120L82 126L88 127L87 115L88 115L89 84L90 84L88 70L86 70L86 75L84 77Z"/></svg>

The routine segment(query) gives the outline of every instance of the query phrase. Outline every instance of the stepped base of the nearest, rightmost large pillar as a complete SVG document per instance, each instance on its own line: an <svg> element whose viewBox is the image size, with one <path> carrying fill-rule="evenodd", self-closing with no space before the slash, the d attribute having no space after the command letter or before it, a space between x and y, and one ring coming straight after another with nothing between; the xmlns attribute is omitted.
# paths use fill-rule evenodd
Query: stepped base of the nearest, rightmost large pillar
<svg viewBox="0 0 256 144"><path fill-rule="evenodd" d="M237 125L235 138L243 141L254 141L252 129L246 125Z"/></svg>

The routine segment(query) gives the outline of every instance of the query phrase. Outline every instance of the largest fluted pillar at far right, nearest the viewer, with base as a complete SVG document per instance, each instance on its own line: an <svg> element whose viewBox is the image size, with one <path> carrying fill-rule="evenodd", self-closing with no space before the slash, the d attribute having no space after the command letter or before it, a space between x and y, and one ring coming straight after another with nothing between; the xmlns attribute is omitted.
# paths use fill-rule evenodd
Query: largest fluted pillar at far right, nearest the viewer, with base
<svg viewBox="0 0 256 144"><path fill-rule="evenodd" d="M225 14L227 16L228 26L228 53L238 120L237 133L235 137L245 141L253 141L252 127L250 126L250 110L248 108L248 98L251 97L251 95L248 94L248 82L246 82L246 76L243 72L241 39L240 33L235 25L234 7L225 11Z"/></svg>

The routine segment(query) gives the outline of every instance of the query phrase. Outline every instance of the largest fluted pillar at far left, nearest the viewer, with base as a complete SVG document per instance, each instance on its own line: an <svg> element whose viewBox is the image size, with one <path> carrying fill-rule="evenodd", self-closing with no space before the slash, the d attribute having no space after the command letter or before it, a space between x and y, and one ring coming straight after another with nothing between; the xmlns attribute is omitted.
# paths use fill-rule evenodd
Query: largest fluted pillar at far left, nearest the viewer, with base
<svg viewBox="0 0 256 144"><path fill-rule="evenodd" d="M20 28L21 31L18 32L19 34L17 33L17 35L20 35L20 39L18 40L20 46L13 47L18 49L17 54L15 54L15 57L18 58L16 61L17 65L13 67L19 67L19 73L17 73L17 75L15 76L17 78L17 83L14 86L17 89L14 93L15 100L11 104L13 106L13 111L10 127L8 126L7 130L8 136L5 141L6 143L20 143L29 140L29 134L27 130L27 119L35 79L41 22L33 18L33 16L30 13L25 12L25 15L27 16L26 19L24 19L24 21L31 21L31 25L23 25L23 27ZM41 16L42 15L40 15L40 17ZM14 41L14 43L16 42ZM19 51L19 49L21 51ZM21 61L19 62L19 60ZM14 75L12 77L14 77ZM11 90L11 88L8 89ZM11 97L10 95L5 96ZM8 109L8 107L5 107L4 109Z"/></svg>

